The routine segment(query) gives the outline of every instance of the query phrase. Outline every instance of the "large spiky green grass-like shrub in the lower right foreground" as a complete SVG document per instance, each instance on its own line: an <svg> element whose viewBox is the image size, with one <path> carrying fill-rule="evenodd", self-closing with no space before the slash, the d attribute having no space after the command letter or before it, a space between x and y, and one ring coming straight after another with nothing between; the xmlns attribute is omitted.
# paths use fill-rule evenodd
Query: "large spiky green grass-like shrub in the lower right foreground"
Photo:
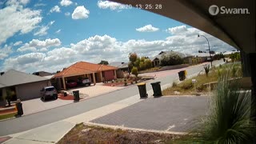
<svg viewBox="0 0 256 144"><path fill-rule="evenodd" d="M228 74L218 80L210 100L210 114L203 119L199 130L204 143L253 143L256 138L254 122L250 119L250 92L239 90ZM252 118L254 119L254 118Z"/></svg>

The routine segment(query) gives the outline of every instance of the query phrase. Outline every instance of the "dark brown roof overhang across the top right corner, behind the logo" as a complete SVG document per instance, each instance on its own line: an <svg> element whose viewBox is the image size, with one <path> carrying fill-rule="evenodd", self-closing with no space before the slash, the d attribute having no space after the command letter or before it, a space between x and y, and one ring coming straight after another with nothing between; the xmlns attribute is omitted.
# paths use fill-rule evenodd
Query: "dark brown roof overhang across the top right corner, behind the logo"
<svg viewBox="0 0 256 144"><path fill-rule="evenodd" d="M198 28L246 53L255 53L255 0L111 0L123 4L162 4L161 10L149 10ZM217 14L209 7L247 8L250 14Z"/></svg>

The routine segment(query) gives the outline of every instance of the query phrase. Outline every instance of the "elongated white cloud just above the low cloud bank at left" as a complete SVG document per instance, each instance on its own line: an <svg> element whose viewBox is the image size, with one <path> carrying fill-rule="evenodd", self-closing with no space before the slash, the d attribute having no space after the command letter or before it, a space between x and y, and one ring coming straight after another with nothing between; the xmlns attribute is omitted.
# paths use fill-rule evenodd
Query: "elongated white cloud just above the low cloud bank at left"
<svg viewBox="0 0 256 144"><path fill-rule="evenodd" d="M60 46L61 41L58 38L46 39L45 41L40 41L38 39L33 39L32 41L25 43L23 46L18 48L18 52L24 51L44 51L51 46Z"/></svg>

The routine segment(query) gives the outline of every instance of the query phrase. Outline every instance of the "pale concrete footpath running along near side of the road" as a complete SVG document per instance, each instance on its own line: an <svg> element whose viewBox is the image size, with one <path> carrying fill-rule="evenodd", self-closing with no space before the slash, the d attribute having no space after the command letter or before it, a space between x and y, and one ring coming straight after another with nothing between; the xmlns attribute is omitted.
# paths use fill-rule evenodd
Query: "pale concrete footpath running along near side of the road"
<svg viewBox="0 0 256 144"><path fill-rule="evenodd" d="M148 92L153 94L153 90ZM46 126L40 126L33 130L27 130L18 134L10 134L10 139L3 143L55 143L58 142L66 133L68 133L76 124L81 122L90 122L96 118L100 118L106 114L121 110L134 103L141 102L143 99L139 95L134 95L130 98L123 99L119 102L114 102L107 106L102 106L98 109L90 110L83 114L78 114L71 118L66 118L62 121L54 122Z"/></svg>

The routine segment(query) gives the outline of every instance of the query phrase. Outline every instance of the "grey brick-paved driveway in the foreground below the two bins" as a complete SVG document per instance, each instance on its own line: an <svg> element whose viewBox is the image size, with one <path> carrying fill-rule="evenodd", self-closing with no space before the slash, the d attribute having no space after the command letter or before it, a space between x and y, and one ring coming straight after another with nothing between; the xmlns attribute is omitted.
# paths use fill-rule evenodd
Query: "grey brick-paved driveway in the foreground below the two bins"
<svg viewBox="0 0 256 144"><path fill-rule="evenodd" d="M206 115L207 107L207 96L147 98L90 122L144 130L190 132Z"/></svg>

